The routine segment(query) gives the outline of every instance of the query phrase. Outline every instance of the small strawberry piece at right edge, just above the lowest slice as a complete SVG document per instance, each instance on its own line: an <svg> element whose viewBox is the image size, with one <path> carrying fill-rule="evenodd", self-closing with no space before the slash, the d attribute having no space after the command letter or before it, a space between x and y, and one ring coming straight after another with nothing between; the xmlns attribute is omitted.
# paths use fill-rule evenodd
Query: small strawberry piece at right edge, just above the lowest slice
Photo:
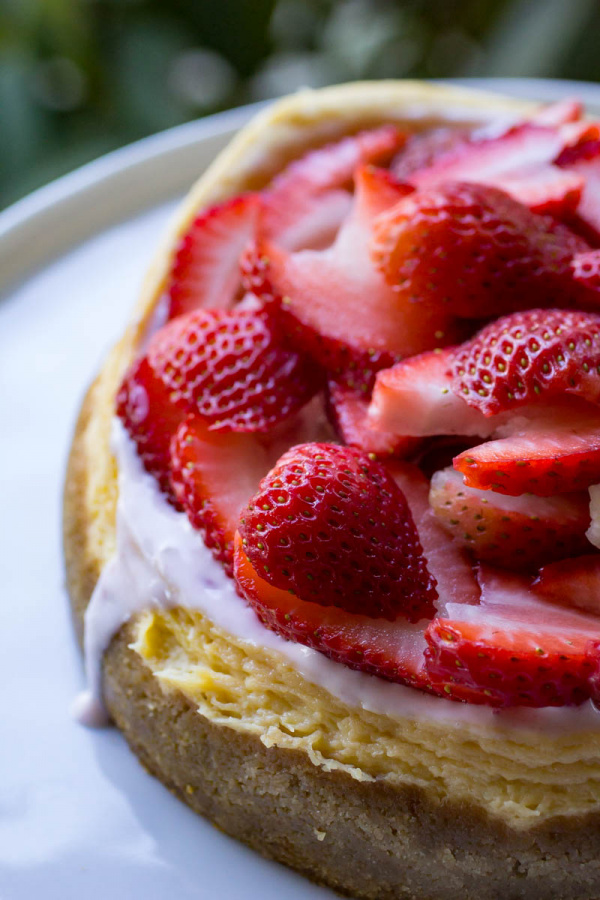
<svg viewBox="0 0 600 900"><path fill-rule="evenodd" d="M551 562L540 570L532 587L543 600L600 615L600 554Z"/></svg>

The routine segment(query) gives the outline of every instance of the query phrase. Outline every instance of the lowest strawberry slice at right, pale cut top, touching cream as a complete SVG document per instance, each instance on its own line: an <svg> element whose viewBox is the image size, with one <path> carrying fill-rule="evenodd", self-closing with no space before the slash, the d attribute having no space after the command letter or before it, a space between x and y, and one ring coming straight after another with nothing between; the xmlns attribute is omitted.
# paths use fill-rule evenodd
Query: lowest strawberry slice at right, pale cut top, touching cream
<svg viewBox="0 0 600 900"><path fill-rule="evenodd" d="M427 671L448 697L490 706L571 706L590 696L588 648L600 621L535 598L496 575L480 606L451 604L427 629Z"/></svg>

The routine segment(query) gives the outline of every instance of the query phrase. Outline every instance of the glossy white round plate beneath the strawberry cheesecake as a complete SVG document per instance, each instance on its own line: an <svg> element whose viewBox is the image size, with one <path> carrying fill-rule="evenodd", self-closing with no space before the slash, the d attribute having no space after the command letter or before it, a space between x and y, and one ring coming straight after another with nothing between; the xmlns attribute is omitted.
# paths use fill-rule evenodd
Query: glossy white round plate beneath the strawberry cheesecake
<svg viewBox="0 0 600 900"><path fill-rule="evenodd" d="M493 87L600 107L590 85ZM333 897L190 812L117 731L87 731L69 715L82 668L63 585L60 495L77 407L175 198L249 114L142 141L0 214L0 290L21 281L0 302L2 900Z"/></svg>

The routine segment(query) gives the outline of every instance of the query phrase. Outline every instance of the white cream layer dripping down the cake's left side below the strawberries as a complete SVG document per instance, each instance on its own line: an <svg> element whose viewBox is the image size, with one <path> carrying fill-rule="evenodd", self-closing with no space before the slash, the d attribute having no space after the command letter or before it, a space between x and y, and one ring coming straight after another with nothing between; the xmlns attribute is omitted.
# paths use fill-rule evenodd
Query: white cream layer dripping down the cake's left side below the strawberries
<svg viewBox="0 0 600 900"><path fill-rule="evenodd" d="M308 681L350 707L392 717L437 719L496 732L526 728L590 731L600 727L591 703L580 707L494 710L430 696L353 671L302 644L266 629L236 593L185 513L167 503L143 468L125 429L115 419L113 452L119 470L117 551L105 566L85 616L88 690L74 712L84 724L106 721L102 702L102 656L121 625L148 609L198 609L224 631L281 654Z"/></svg>

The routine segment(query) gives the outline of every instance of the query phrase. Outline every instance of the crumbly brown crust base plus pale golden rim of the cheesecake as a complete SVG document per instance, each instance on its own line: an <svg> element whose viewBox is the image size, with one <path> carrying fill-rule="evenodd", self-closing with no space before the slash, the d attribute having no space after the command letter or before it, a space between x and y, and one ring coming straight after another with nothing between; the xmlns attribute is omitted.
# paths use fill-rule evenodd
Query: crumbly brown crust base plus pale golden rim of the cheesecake
<svg viewBox="0 0 600 900"><path fill-rule="evenodd" d="M526 105L454 88L380 83L302 93L241 133L200 180L148 277L136 318L83 404L64 503L67 581L79 636L114 548L116 471L108 447L114 395L160 295L177 236L196 209L260 187L307 146L382 121L480 121ZM412 112L411 112L412 111ZM600 816L514 829L477 805L440 803L425 789L325 772L304 753L266 748L216 725L182 693L164 692L129 647L125 626L104 658L106 702L145 767L228 834L344 893L373 900L600 898Z"/></svg>

